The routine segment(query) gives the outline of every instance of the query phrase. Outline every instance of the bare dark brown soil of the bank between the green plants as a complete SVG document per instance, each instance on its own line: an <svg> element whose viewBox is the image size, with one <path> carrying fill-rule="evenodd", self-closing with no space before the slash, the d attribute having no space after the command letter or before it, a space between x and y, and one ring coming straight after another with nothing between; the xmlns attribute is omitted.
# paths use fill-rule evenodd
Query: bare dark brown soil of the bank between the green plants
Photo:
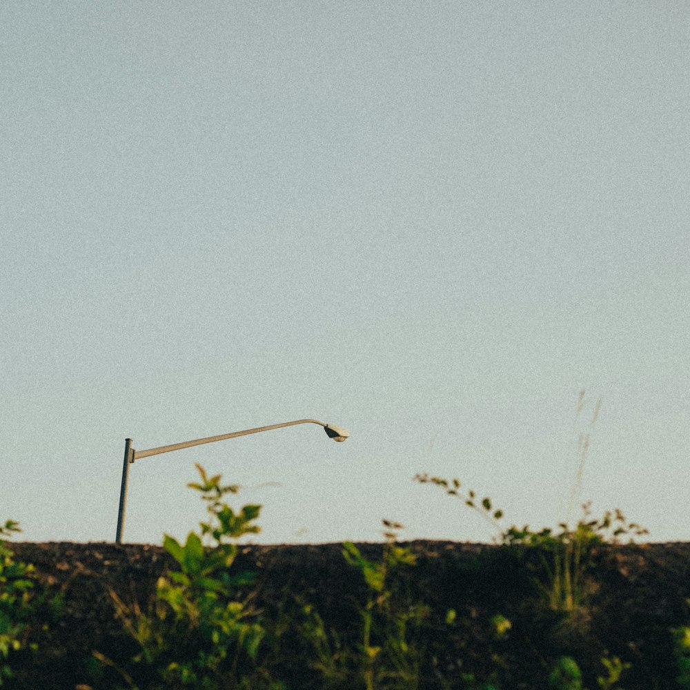
<svg viewBox="0 0 690 690"><path fill-rule="evenodd" d="M463 671L489 678L499 668L511 678L504 690L546 688L549 660L571 655L583 670L586 687L592 688L598 687L595 679L603 671L600 658L618 656L631 663L622 682L627 690L680 687L671 629L690 624L690 544L600 546L587 605L569 616L544 605L535 586L538 565L529 553L456 542L407 545L418 560L401 575L402 584L411 600L424 602L433 612L425 634L430 649L443 644L451 650L448 658L436 660L449 673L453 664L456 673L464 664ZM64 596L50 627L33 631L38 650L14 656L16 678L8 687L112 687L92 651L126 667L136 647L115 617L111 592L146 607L159 575L174 566L172 559L159 546L141 544L8 546L17 560L36 566L43 584ZM380 558L382 544L359 547L366 558ZM251 590L238 596L252 594L264 621L281 620L311 603L327 626L347 634L348 627L356 627L358 607L366 600L362 577L345 562L340 544L244 546L233 568L257 573ZM441 624L449 609L457 612L451 632ZM513 626L501 641L492 637L489 625L497 613ZM296 661L304 654L302 642L286 634L281 644L273 669L279 677L290 688L318 687L315 676L302 675L308 664ZM429 671L422 687L442 686Z"/></svg>

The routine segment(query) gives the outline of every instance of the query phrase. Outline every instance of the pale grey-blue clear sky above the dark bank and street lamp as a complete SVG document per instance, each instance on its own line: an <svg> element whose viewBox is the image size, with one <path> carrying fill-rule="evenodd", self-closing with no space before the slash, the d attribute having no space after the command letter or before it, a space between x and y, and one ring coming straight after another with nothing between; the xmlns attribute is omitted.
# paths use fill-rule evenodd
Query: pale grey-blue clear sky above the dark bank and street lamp
<svg viewBox="0 0 690 690"><path fill-rule="evenodd" d="M0 3L0 520L690 540L690 6ZM578 395L586 391L583 408ZM601 400L600 413L591 424ZM590 435L578 480L578 436Z"/></svg>

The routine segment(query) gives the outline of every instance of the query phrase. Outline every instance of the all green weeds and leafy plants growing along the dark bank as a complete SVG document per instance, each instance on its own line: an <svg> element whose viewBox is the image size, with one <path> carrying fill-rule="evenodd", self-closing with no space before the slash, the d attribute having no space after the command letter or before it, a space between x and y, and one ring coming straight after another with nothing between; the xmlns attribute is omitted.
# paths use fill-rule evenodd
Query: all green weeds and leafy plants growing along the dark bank
<svg viewBox="0 0 690 690"><path fill-rule="evenodd" d="M246 569L238 546L259 531L261 506L233 509L228 498L239 487L197 470L188 486L206 504L199 529L184 543L164 536L169 565L144 604L111 584L117 641L63 660L72 680L41 678L46 690L690 688L687 618L654 627L628 621L624 608L625 625L606 613L612 590L600 589L602 558L623 536L646 533L618 510L593 518L585 504L573 528L506 528L491 498L420 474L417 482L495 526L497 544L451 565L442 549L429 559L400 543L402 525L384 520L384 544L345 542L342 566L309 579L293 564L272 582L259 560ZM0 536L17 529L8 521ZM56 597L43 582L0 541L0 684L10 690L36 687L34 651L51 663L41 631L65 585Z"/></svg>

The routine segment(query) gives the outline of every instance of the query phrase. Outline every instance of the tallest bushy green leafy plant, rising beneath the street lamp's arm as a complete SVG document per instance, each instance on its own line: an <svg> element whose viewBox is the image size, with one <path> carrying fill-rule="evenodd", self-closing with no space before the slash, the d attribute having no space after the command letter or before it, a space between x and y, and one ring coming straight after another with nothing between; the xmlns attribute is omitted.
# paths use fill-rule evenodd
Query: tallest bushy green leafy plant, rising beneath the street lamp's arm
<svg viewBox="0 0 690 690"><path fill-rule="evenodd" d="M209 477L199 465L197 470L201 481L188 486L201 493L210 519L200 522L199 533L190 532L184 544L165 535L164 548L178 569L159 578L150 611L143 613L136 603L127 606L111 595L139 645L134 662L148 670L143 674L146 687L256 687L250 686L250 676L259 682L254 662L266 631L247 602L233 598L235 588L250 584L252 576L228 569L237 556L237 540L259 531L253 522L261 506L244 506L235 513L224 497L239 487L221 484L221 475ZM97 658L115 666L103 655ZM118 670L130 687L139 687L134 673Z"/></svg>

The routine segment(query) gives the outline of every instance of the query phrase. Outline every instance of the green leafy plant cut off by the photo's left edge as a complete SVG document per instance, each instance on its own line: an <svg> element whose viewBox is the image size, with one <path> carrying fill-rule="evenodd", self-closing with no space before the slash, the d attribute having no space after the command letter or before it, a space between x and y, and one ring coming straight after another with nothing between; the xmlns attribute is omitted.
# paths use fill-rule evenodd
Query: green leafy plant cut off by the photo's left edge
<svg viewBox="0 0 690 690"><path fill-rule="evenodd" d="M14 520L0 524L1 537L19 531L19 523ZM14 675L9 661L12 652L35 649L27 634L34 613L33 572L32 565L14 560L6 542L0 540L0 685Z"/></svg>

